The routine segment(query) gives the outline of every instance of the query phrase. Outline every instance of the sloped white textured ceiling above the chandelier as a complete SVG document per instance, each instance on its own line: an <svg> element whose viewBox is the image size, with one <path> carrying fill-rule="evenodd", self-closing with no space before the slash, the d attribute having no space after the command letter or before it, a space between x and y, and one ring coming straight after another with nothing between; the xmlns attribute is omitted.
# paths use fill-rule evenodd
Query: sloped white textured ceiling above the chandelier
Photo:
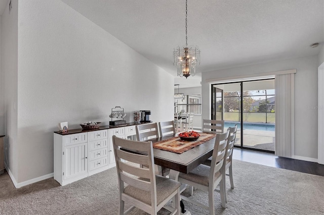
<svg viewBox="0 0 324 215"><path fill-rule="evenodd" d="M62 2L176 76L172 52L185 44L184 0ZM319 47L309 45L323 44L323 3L188 0L188 44L201 50L197 72L317 55ZM176 78L175 83L181 88L199 85L196 76L181 78L181 82Z"/></svg>

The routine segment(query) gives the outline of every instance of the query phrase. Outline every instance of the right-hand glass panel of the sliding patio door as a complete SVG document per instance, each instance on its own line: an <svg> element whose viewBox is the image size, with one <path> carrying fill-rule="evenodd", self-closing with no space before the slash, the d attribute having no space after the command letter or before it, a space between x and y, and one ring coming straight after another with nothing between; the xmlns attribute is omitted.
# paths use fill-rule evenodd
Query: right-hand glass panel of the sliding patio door
<svg viewBox="0 0 324 215"><path fill-rule="evenodd" d="M243 147L274 151L274 79L243 82Z"/></svg>

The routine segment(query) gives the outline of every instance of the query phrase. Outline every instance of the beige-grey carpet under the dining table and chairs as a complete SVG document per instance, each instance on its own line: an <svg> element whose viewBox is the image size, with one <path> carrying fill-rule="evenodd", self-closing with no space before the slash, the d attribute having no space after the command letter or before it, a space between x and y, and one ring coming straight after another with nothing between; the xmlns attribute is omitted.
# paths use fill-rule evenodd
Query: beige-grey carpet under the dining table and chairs
<svg viewBox="0 0 324 215"><path fill-rule="evenodd" d="M53 178L15 189L0 176L0 214L117 214L115 168L61 187ZM227 208L215 192L216 214L324 214L324 177L233 160ZM227 180L228 183L228 180ZM185 193L187 195L187 193ZM207 202L196 190L192 198ZM184 201L191 214L208 211ZM133 214L146 214L136 210ZM168 214L166 210L158 214Z"/></svg>

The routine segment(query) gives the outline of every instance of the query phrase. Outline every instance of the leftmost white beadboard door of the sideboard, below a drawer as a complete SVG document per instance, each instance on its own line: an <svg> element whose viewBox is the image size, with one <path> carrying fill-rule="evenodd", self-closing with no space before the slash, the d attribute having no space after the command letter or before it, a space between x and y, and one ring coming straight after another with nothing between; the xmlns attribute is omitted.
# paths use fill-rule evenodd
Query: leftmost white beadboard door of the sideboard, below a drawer
<svg viewBox="0 0 324 215"><path fill-rule="evenodd" d="M64 147L64 180L88 172L87 143Z"/></svg>

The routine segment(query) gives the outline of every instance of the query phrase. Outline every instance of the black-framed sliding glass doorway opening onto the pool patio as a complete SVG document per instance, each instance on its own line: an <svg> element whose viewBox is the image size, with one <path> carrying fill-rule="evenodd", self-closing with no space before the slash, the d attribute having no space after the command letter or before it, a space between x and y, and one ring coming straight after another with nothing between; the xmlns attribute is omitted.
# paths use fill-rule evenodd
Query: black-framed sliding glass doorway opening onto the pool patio
<svg viewBox="0 0 324 215"><path fill-rule="evenodd" d="M235 147L274 153L274 78L212 84L212 119L237 125Z"/></svg>

